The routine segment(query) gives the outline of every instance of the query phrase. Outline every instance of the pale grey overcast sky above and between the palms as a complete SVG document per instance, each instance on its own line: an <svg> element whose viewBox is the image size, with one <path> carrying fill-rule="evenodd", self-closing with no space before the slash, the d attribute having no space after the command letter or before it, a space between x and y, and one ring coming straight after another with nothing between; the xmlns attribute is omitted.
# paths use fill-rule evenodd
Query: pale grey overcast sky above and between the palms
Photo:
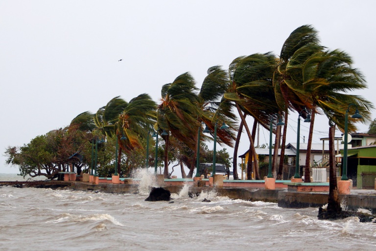
<svg viewBox="0 0 376 251"><path fill-rule="evenodd" d="M227 69L236 57L256 52L279 55L288 35L306 24L319 31L324 46L350 53L369 85L356 94L374 101L375 5L371 0L1 0L0 173L18 173L5 166L8 146L67 126L115 96L129 101L148 93L159 102L162 85L185 72L200 88L209 67ZM297 119L289 116L287 143L296 142ZM321 143L328 119L317 116L315 122L313 141ZM307 139L304 126L301 136ZM358 132L368 126L359 124ZM268 137L261 130L260 144ZM244 134L239 154L248 147Z"/></svg>

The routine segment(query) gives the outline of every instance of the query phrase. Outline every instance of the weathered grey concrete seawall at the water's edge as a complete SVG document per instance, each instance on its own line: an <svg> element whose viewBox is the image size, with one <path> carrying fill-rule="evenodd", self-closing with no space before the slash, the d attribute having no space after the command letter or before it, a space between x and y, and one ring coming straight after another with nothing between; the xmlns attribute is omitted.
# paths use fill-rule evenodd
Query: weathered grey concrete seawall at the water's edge
<svg viewBox="0 0 376 251"><path fill-rule="evenodd" d="M74 182L72 187L79 190L100 190L109 193L137 193L137 184L111 184L100 183L93 185L86 182ZM182 185L167 185L163 186L171 193L178 194L183 188ZM305 207L319 207L328 203L328 193L314 193L314 192L289 192L286 188L279 188L275 190L258 189L258 188L213 188L213 187L190 187L189 192L193 194L200 194L203 191L215 190L218 196L227 196L230 199L240 199L248 201L265 201L278 203L282 208L305 208ZM361 194L360 191L363 193ZM350 195L340 195L341 204L344 205L344 210L356 211L358 208L370 210L376 213L376 194L373 190L352 190ZM373 192L373 193L371 193Z"/></svg>

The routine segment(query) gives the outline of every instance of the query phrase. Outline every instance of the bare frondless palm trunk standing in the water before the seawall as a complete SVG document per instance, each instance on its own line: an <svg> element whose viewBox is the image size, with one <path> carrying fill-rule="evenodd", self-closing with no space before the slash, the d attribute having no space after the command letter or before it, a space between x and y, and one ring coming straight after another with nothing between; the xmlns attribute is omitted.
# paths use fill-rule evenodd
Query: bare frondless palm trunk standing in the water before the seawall
<svg viewBox="0 0 376 251"><path fill-rule="evenodd" d="M329 127L329 197L328 212L339 213L341 204L338 198L337 176L335 174L335 151L334 151L335 125Z"/></svg>

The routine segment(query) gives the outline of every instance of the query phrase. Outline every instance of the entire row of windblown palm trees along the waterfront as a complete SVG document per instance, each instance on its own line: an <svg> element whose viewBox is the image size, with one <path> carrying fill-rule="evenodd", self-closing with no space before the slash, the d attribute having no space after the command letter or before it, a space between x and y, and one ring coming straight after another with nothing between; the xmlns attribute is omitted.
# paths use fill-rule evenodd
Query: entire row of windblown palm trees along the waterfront
<svg viewBox="0 0 376 251"><path fill-rule="evenodd" d="M168 176L168 149L170 137L183 143L194 153L197 151L197 136L203 123L211 131L216 123L226 123L229 129L218 129L219 144L234 149L234 178L237 176L237 148L241 133L245 129L250 142L250 162L257 179L260 179L255 151L257 124L269 129L273 123L276 133L275 151L278 151L282 135L281 162L273 165L274 176L282 178L282 165L289 112L310 111L305 181L309 181L310 146L316 114L328 117L330 128L344 128L348 104L357 105L363 115L363 122L370 119L373 104L353 95L355 90L366 88L364 76L352 67L352 58L342 50L328 50L320 45L318 32L311 25L295 29L282 45L279 56L272 52L255 53L237 57L227 70L220 66L208 69L200 89L189 73L184 73L169 84L162 86L161 101L156 103L149 95L141 94L126 102L119 97L110 100L95 114L84 112L72 120L82 130L98 130L106 137L117 137L118 159L122 152L129 153L141 148L140 138L146 138L152 131L162 135L165 144L164 176ZM303 113L305 118L308 114ZM246 117L252 117L252 128ZM277 116L284 119L283 132L276 126ZM240 123L238 123L238 117ZM354 131L354 120L349 119L349 131ZM201 130L202 131L202 130ZM331 130L329 130L331 131ZM201 141L211 137L200 135ZM334 137L334 134L331 135ZM125 139L126 138L126 139ZM196 154L189 154L184 163L192 177ZM252 163L248 165L252 168ZM278 168L277 168L278 166ZM118 161L120 169L120 161ZM278 172L277 172L278 169ZM251 172L248 172L251 173Z"/></svg>

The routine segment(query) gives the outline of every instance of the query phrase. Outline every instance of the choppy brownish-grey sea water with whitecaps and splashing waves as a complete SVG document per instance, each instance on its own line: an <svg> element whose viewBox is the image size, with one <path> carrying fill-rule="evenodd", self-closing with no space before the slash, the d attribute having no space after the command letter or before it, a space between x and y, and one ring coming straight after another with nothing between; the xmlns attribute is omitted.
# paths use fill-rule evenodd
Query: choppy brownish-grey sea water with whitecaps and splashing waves
<svg viewBox="0 0 376 251"><path fill-rule="evenodd" d="M0 250L376 249L376 224L358 218L320 221L318 208L231 200L215 190L189 198L187 185L173 203L149 202L154 181L142 180L138 194L0 186Z"/></svg>

